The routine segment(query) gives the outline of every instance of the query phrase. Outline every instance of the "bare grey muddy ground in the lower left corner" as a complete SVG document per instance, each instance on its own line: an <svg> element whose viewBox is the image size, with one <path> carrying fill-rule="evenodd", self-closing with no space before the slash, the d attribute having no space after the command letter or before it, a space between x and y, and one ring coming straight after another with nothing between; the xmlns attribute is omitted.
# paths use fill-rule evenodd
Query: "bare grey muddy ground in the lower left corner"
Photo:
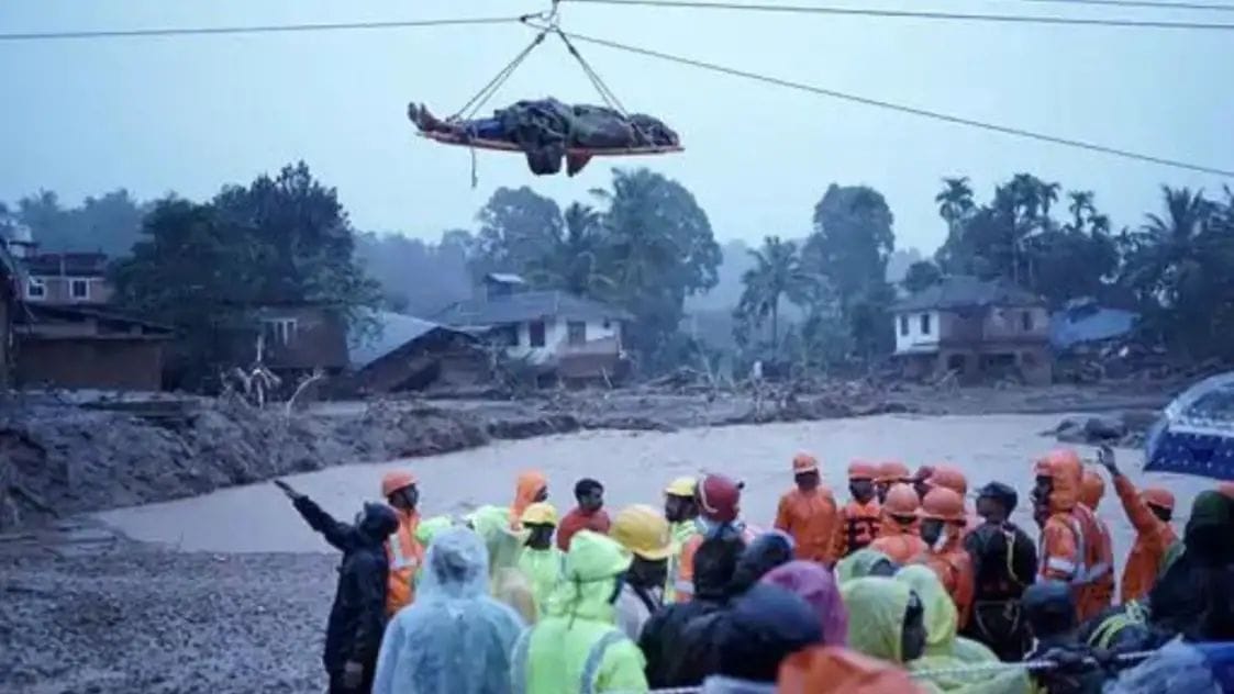
<svg viewBox="0 0 1234 694"><path fill-rule="evenodd" d="M0 549L0 692L322 692L337 558Z"/></svg>

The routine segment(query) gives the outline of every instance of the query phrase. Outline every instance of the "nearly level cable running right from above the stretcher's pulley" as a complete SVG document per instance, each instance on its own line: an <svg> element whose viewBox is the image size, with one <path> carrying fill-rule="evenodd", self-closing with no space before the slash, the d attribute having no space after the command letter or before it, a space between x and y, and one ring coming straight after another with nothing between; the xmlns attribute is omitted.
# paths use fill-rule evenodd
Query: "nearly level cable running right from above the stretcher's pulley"
<svg viewBox="0 0 1234 694"><path fill-rule="evenodd" d="M1099 20L1030 15L975 15L965 12L934 12L918 10L876 10L869 7L834 7L822 5L771 5L766 2L728 2L718 0L563 0L574 4L621 5L628 7L674 7L689 10L729 10L743 12L775 12L795 15L830 15L847 17L880 17L896 20L998 22L1024 25L1096 26L1116 28L1155 28L1192 31L1234 31L1234 23L1175 22L1156 20Z"/></svg>

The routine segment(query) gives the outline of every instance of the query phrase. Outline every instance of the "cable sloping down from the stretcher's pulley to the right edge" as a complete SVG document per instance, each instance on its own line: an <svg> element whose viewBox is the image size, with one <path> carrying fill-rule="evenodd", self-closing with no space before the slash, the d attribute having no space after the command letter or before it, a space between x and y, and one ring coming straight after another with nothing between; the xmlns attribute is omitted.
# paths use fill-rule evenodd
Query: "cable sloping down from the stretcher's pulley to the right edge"
<svg viewBox="0 0 1234 694"><path fill-rule="evenodd" d="M533 28L540 28L540 30L544 28L543 26L538 26L538 25L534 25L532 22L526 22L526 23L528 26L532 26ZM698 69L708 70L708 71L712 71L712 73L721 73L721 74L727 74L727 75L731 75L731 76L738 76L738 78L743 78L743 79L748 79L748 80L761 81L761 83L765 83L765 84L771 84L771 85L775 85L775 86L782 86L782 88L787 88L787 89L793 89L793 90L797 90L797 91L807 91L807 92L816 94L816 95L819 95L819 96L829 96L832 99L839 99L839 100L843 100L843 101L850 101L853 104L861 104L864 106L874 106L874 107L877 107L877 108L884 108L884 110L888 110L888 111L898 111L901 113L909 113L909 115L913 115L913 116L919 116L919 117L923 117L923 118L930 118L930 120L934 120L934 121L942 121L942 122L945 122L945 123L953 123L953 125L959 125L959 126L967 126L967 127L971 127L971 128L979 128L979 129L996 132L996 133L1002 133L1002 134L1011 134L1011 136L1016 136L1016 137L1021 137L1021 138L1035 139L1035 141L1039 141L1039 142L1048 142L1048 143L1051 143L1051 144L1061 144L1064 147L1072 147L1072 148L1077 148L1077 149L1087 149L1090 152L1097 152L1097 153L1101 153L1101 154L1109 154L1109 155L1113 155L1113 157L1122 157L1124 159L1134 159L1137 161L1146 161L1146 163L1150 163L1150 164L1160 164L1162 166L1172 166L1175 169L1185 169L1185 170L1188 170L1188 171L1198 171L1198 173L1202 173L1202 174L1212 174L1212 175L1217 175L1217 176L1224 176L1224 178L1234 179L1234 170L1232 170L1232 169L1218 169L1215 166L1206 166L1206 165L1202 165L1202 164L1191 164L1188 161L1180 161L1177 159L1166 159L1164 157L1154 157L1151 154L1143 154L1143 153L1139 153L1139 152L1132 152L1129 149L1120 149L1120 148L1117 148L1117 147L1107 147L1107 145L1103 145L1103 144L1086 142L1086 141L1082 141L1082 139L1056 137L1056 136L1039 133L1039 132L1034 132L1034 131L1025 131L1025 129L1022 129L1022 128L1014 128L1014 127L1009 127L1009 126L1000 126L997 123L987 123L987 122L983 122L983 121L976 121L976 120L972 120L972 118L965 118L963 116L954 116L954 115L944 113L944 112L940 112L940 111L930 111L928 108L918 108L916 106L905 106L902 104L893 104L891 101L882 101L880 99L870 99L870 97L866 97L866 96L859 96L859 95L855 95L855 94L848 94L848 92L844 92L844 91L837 91L834 89L826 89L826 88L821 88L821 86L816 86L816 85L811 85L811 84L805 84L805 83L800 83L800 81L792 81L792 80L787 80L787 79L781 79L781 78L775 78L775 76L770 76L770 75L763 75L763 74L758 74L758 73L752 73L752 71L748 71L748 70L742 70L742 69L738 69L738 68L731 68L731 67L727 67L727 65L719 65L717 63L708 63L706 60L696 60L694 58L686 58L686 57L682 57L682 55L674 55L671 53L661 53L659 51L653 51L650 48L642 48L642 47L638 47L638 46L631 46L628 43L619 43L619 42L616 42L616 41L608 41L606 38L597 38L597 37L592 37L592 36L585 36L585 35L581 35L581 33L566 32L566 31L563 31L561 33L564 33L569 38L573 38L574 41L579 41L579 42L582 42L582 43L591 43L591 44L595 44L595 46L603 46L606 48L612 48L615 51L623 51L626 53L634 53L634 54L644 55L644 57L648 57L648 58L658 58L660 60L668 60L670 63L679 63L679 64L682 64L682 65L689 65L689 67L692 67L692 68L698 68Z"/></svg>

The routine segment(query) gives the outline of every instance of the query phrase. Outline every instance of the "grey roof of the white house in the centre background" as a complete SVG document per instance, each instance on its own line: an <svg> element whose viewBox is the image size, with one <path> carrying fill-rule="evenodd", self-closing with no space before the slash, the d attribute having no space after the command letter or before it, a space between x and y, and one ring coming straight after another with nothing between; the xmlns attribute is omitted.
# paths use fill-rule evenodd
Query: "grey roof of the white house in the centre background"
<svg viewBox="0 0 1234 694"><path fill-rule="evenodd" d="M482 327L545 318L566 320L629 320L621 308L563 291L531 291L460 301L433 317L447 325Z"/></svg>

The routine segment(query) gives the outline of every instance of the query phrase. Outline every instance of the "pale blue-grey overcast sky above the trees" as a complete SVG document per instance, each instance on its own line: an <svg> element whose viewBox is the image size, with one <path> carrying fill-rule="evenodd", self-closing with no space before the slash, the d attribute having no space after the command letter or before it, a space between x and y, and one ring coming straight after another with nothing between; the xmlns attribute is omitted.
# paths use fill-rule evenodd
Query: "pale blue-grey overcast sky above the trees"
<svg viewBox="0 0 1234 694"><path fill-rule="evenodd" d="M798 2L800 4L800 2ZM819 2L821 4L821 2ZM828 2L840 5L842 0ZM0 31L517 15L548 0L4 0ZM861 6L1212 20L1234 14L1067 9L1008 0L886 0ZM853 6L856 6L854 2ZM943 23L701 10L563 5L563 26L670 53L971 118L1234 168L1234 33ZM559 201L608 181L605 161L574 180L533 178L518 155L412 134L408 100L458 108L531 39L520 26L0 43L5 75L0 200L46 187L68 201L125 186L205 197L228 181L305 159L338 187L362 229L436 238L470 227L497 186ZM580 46L632 110L681 134L647 164L697 196L721 239L801 235L832 181L887 196L900 245L927 250L944 228L933 196L969 175L981 198L1029 171L1092 189L1116 224L1139 223L1157 186L1217 191L1217 176L1022 141L914 116ZM1225 65L1224 68L1222 65ZM596 101L545 42L497 101Z"/></svg>

